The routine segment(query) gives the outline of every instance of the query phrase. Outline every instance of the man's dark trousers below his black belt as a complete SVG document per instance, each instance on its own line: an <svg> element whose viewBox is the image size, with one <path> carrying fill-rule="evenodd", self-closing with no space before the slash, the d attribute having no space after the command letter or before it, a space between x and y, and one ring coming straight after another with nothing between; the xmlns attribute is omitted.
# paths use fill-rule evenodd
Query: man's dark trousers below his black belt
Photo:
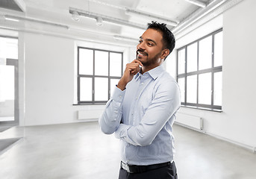
<svg viewBox="0 0 256 179"><path fill-rule="evenodd" d="M164 166L160 169L153 169L143 173L128 173L120 169L119 179L178 179L175 163Z"/></svg>

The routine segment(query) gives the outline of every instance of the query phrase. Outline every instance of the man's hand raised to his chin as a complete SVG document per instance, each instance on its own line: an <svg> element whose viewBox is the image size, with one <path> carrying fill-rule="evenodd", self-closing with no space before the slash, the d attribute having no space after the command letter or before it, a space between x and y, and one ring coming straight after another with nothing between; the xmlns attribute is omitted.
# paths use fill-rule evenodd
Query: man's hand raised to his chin
<svg viewBox="0 0 256 179"><path fill-rule="evenodd" d="M143 63L139 60L133 60L131 63L126 64L125 72L117 84L120 90L125 90L126 85L134 78L134 75L140 71L140 66L143 66Z"/></svg>

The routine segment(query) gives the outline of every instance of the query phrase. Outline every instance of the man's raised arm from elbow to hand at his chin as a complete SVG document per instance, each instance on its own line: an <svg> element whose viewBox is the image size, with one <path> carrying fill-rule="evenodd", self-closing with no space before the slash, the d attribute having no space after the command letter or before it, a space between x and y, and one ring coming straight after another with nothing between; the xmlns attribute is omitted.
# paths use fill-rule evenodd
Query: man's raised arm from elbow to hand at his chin
<svg viewBox="0 0 256 179"><path fill-rule="evenodd" d="M110 100L107 101L102 116L99 118L99 125L104 134L113 134L119 127L122 118L122 100L125 95L125 87L140 70L143 64L139 60L128 63L125 72L116 86Z"/></svg>

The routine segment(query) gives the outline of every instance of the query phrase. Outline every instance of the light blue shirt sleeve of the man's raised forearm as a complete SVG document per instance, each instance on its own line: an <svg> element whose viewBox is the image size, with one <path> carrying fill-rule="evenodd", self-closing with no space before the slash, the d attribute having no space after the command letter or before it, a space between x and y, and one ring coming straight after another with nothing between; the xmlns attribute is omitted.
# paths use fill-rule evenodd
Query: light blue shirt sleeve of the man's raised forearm
<svg viewBox="0 0 256 179"><path fill-rule="evenodd" d="M104 108L102 115L99 117L99 125L104 134L113 134L119 127L122 118L122 101L125 90L115 88L113 95Z"/></svg>

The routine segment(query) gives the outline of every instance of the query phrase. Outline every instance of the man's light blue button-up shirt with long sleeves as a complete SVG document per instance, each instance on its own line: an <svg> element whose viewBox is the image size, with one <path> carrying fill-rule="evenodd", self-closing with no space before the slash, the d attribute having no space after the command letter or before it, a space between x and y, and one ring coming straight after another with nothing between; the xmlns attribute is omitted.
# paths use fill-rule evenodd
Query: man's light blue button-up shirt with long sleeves
<svg viewBox="0 0 256 179"><path fill-rule="evenodd" d="M121 141L121 160L131 165L151 165L173 160L172 125L181 104L175 79L157 66L139 72L126 85L116 87L99 124L105 134Z"/></svg>

